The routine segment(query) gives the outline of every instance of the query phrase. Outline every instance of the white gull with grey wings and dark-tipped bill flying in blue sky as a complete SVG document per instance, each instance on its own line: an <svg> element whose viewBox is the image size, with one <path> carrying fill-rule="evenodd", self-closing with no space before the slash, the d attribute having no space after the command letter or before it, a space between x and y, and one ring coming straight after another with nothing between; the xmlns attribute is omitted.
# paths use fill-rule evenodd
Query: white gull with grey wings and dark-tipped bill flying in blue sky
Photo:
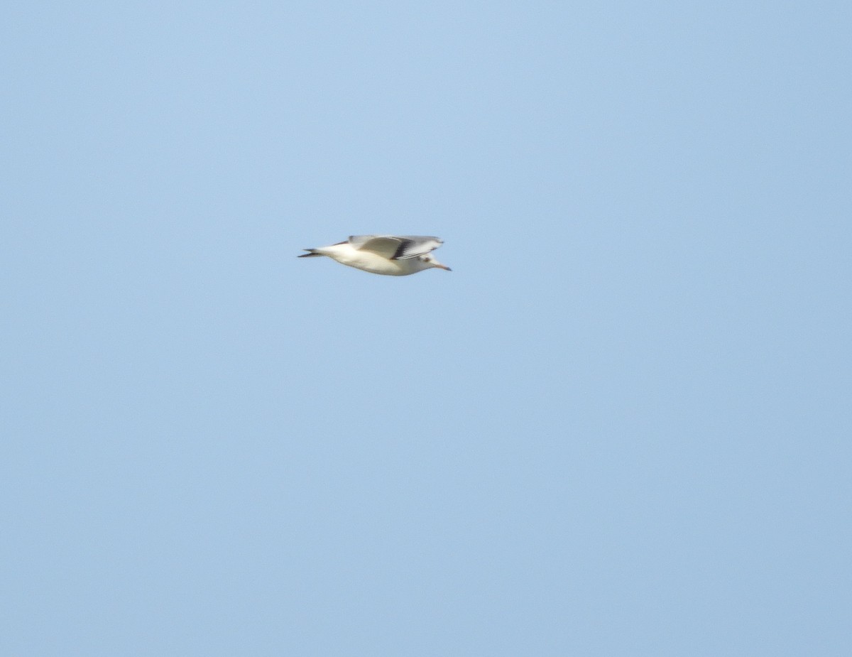
<svg viewBox="0 0 852 657"><path fill-rule="evenodd" d="M387 276L407 276L433 267L449 272L431 253L443 243L421 235L350 235L345 242L305 249L308 253L299 257L329 256L343 265Z"/></svg>

